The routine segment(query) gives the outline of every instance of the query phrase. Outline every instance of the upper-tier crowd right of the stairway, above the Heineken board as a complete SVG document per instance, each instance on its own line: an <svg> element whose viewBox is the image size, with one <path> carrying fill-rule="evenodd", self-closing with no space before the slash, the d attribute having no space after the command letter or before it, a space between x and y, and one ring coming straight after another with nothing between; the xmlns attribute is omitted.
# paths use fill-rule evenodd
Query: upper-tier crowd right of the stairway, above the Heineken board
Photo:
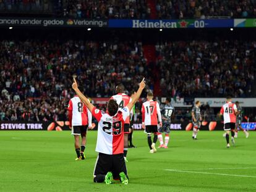
<svg viewBox="0 0 256 192"><path fill-rule="evenodd" d="M156 1L159 19L207 19L214 17L256 17L256 1L190 0Z"/></svg>

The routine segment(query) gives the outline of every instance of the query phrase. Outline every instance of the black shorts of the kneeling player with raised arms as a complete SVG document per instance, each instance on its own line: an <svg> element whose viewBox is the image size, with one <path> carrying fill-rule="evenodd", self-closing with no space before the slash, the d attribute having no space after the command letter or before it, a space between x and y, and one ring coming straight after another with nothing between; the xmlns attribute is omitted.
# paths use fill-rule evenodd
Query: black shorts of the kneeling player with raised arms
<svg viewBox="0 0 256 192"><path fill-rule="evenodd" d="M124 172L127 175L126 162L124 162L124 154L108 155L99 153L95 162L93 176L106 175L112 172L113 178L118 179L119 173Z"/></svg>

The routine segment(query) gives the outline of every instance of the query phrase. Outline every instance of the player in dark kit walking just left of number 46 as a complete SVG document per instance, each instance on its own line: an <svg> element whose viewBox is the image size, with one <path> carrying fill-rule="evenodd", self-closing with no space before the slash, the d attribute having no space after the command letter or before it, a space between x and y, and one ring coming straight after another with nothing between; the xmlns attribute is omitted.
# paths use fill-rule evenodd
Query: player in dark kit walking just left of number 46
<svg viewBox="0 0 256 192"><path fill-rule="evenodd" d="M200 101L195 101L195 106L192 108L192 122L193 122L193 134L192 139L197 140L198 128L201 127L202 116L200 112Z"/></svg>

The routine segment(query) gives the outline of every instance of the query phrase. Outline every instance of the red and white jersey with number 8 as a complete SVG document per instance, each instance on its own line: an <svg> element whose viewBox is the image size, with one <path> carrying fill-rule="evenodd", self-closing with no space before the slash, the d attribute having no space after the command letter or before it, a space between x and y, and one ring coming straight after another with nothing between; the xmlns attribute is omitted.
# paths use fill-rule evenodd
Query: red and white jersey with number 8
<svg viewBox="0 0 256 192"><path fill-rule="evenodd" d="M92 127L92 114L77 95L69 100L67 110L69 110L70 126L88 125Z"/></svg>

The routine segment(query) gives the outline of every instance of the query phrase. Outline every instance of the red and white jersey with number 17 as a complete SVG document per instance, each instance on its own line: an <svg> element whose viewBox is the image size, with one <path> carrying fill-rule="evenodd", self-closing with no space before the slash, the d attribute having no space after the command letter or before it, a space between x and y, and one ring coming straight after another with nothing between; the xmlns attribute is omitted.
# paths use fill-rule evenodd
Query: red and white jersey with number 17
<svg viewBox="0 0 256 192"><path fill-rule="evenodd" d="M153 100L143 102L142 122L145 122L145 125L157 125L158 121L162 122L161 111L158 102Z"/></svg>

